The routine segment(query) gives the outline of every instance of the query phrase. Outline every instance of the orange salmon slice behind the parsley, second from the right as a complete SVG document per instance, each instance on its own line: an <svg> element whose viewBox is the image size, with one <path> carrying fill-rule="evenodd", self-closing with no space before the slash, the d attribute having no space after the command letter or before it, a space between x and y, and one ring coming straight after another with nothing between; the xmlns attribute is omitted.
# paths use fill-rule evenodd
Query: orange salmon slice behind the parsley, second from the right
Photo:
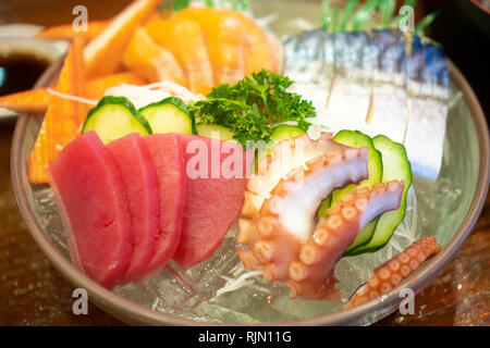
<svg viewBox="0 0 490 348"><path fill-rule="evenodd" d="M224 11L208 8L187 8L176 16L194 21L203 28L215 83L233 84L245 76L246 33L242 23Z"/></svg>

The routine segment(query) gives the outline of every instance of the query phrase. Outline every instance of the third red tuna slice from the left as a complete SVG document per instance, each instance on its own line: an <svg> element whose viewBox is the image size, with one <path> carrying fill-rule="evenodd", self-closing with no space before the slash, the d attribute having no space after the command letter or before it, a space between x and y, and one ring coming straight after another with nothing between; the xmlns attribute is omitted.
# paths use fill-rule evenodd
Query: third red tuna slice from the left
<svg viewBox="0 0 490 348"><path fill-rule="evenodd" d="M166 266L181 241L186 177L183 147L175 134L152 134L142 139L157 171L160 197L160 229L147 276Z"/></svg>

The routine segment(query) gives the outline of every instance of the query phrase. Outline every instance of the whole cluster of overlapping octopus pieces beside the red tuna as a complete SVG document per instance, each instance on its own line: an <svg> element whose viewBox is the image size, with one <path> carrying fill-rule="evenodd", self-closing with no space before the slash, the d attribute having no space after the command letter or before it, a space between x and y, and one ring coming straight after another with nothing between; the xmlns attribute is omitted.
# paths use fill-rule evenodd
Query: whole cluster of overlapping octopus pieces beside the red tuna
<svg viewBox="0 0 490 348"><path fill-rule="evenodd" d="M368 152L333 141L330 133L278 142L247 184L237 238L244 266L287 285L292 297L339 298L335 263L367 223L400 207L404 188L396 181L359 188L318 220L322 199L367 178Z"/></svg>

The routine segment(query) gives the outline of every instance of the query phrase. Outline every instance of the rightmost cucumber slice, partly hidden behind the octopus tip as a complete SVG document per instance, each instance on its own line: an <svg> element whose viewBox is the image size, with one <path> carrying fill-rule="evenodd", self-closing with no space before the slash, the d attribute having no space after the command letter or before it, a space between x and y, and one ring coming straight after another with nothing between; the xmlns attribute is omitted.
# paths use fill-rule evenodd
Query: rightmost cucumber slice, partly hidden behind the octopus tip
<svg viewBox="0 0 490 348"><path fill-rule="evenodd" d="M383 161L382 182L385 183L394 179L404 181L405 188L400 208L382 214L379 217L375 234L369 243L352 250L351 254L375 252L388 244L394 231L405 217L406 192L412 185L412 166L406 156L405 147L402 144L390 140L383 135L376 136L372 141L375 142L376 149L381 152Z"/></svg>

